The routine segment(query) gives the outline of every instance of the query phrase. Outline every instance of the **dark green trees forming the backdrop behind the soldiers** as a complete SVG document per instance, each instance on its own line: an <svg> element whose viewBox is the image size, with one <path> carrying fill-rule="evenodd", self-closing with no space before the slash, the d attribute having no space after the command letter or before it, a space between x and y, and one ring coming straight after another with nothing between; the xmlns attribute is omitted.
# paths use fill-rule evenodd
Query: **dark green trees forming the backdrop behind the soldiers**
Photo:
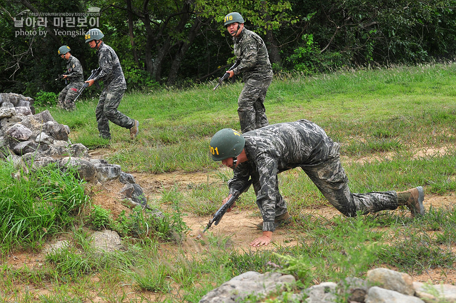
<svg viewBox="0 0 456 303"><path fill-rule="evenodd" d="M233 42L223 17L243 15L266 42L274 69L303 73L342 66L416 63L454 56L456 0L6 0L0 4L0 91L58 93L64 69L57 56L69 45L86 73L98 64L82 36L58 27L25 26L47 35L17 35L24 10L81 13L99 7L103 40L121 59L129 89L185 85L223 74ZM62 29L62 28L60 28ZM64 28L63 28L64 29ZM83 28L83 29L88 29Z"/></svg>

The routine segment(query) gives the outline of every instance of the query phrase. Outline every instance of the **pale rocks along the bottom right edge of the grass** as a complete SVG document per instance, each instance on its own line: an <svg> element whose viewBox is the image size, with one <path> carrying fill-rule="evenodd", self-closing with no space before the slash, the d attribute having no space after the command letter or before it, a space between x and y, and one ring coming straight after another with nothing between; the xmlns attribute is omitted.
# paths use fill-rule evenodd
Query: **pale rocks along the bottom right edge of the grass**
<svg viewBox="0 0 456 303"><path fill-rule="evenodd" d="M386 268L367 272L366 279L346 278L338 283L324 282L294 293L296 281L280 273L246 272L208 292L200 303L263 302L276 298L278 302L305 303L454 303L456 286L413 282L406 273Z"/></svg>

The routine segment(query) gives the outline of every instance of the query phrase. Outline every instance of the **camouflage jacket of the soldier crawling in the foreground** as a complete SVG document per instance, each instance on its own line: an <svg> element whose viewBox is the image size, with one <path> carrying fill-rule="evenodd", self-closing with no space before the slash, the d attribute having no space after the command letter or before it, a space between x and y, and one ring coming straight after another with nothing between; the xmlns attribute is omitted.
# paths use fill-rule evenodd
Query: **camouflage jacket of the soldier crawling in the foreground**
<svg viewBox="0 0 456 303"><path fill-rule="evenodd" d="M248 161L234 169L234 177L228 182L230 194L239 190L251 176L257 205L267 223L274 231L275 203L279 194L277 174L301 166L323 163L333 144L323 128L301 119L264 126L242 134Z"/></svg>

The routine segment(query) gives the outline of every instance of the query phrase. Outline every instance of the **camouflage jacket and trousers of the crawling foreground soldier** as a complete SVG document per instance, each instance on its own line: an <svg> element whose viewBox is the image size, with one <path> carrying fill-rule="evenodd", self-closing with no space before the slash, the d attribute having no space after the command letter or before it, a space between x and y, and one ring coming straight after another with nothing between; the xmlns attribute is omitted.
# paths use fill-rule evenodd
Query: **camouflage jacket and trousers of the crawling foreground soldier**
<svg viewBox="0 0 456 303"><path fill-rule="evenodd" d="M395 191L351 193L340 164L339 147L317 124L302 119L265 126L243 134L248 161L234 169L228 182L230 194L239 190L249 176L256 204L263 217L263 231L274 231L275 217L287 211L279 193L277 174L301 167L326 199L348 217L385 209L396 209Z"/></svg>

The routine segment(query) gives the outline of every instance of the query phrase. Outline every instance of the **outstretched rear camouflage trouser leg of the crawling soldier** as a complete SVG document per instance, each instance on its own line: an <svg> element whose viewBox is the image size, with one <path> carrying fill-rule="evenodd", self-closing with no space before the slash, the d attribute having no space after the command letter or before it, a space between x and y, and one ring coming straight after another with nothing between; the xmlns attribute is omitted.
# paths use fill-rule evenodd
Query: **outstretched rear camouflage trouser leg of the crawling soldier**
<svg viewBox="0 0 456 303"><path fill-rule="evenodd" d="M339 148L340 145L334 142L325 162L316 166L301 167L329 203L347 217L354 217L357 212L366 214L396 209L399 204L395 191L365 194L350 191L347 175L340 163Z"/></svg>

